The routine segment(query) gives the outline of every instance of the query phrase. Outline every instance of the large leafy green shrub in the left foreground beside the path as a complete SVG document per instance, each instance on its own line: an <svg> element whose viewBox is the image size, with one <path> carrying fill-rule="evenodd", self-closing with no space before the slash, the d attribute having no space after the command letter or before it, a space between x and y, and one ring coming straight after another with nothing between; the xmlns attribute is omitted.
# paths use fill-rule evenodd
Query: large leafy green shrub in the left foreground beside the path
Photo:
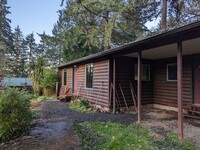
<svg viewBox="0 0 200 150"><path fill-rule="evenodd" d="M0 142L21 135L32 121L31 95L16 88L5 88L0 95Z"/></svg>

